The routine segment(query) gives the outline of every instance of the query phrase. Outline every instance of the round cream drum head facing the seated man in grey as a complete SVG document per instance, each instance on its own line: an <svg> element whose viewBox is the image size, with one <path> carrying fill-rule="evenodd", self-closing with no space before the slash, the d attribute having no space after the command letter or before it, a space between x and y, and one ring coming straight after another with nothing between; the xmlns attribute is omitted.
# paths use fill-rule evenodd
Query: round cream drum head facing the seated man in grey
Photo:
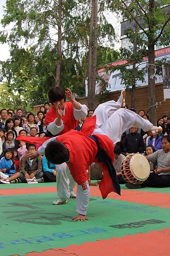
<svg viewBox="0 0 170 256"><path fill-rule="evenodd" d="M131 169L139 179L147 179L150 174L150 165L146 157L137 155L131 160Z"/></svg>

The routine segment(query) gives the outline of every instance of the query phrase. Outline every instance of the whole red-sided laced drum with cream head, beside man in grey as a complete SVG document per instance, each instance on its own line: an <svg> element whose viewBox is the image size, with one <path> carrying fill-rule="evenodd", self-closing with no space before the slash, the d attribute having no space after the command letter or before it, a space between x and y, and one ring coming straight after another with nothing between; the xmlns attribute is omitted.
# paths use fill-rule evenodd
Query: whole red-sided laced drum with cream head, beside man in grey
<svg viewBox="0 0 170 256"><path fill-rule="evenodd" d="M141 184L149 177L150 165L146 157L133 153L122 161L121 172L127 182Z"/></svg>

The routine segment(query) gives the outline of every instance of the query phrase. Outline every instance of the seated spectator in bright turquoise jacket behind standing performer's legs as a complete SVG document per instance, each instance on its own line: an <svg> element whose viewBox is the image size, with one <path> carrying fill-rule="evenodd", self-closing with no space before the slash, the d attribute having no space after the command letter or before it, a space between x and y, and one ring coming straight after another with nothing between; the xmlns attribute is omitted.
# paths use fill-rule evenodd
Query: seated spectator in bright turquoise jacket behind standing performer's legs
<svg viewBox="0 0 170 256"><path fill-rule="evenodd" d="M55 164L47 161L47 158L43 156L42 158L43 167L43 178L44 182L56 182L56 168Z"/></svg>

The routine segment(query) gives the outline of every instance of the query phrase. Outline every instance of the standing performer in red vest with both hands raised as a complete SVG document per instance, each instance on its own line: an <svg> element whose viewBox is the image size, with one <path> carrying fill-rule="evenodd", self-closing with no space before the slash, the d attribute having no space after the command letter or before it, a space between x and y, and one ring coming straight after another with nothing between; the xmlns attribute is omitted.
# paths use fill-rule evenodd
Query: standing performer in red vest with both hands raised
<svg viewBox="0 0 170 256"><path fill-rule="evenodd" d="M66 96L69 102L66 102ZM45 122L47 130L53 135L64 134L71 129L75 129L78 120L87 116L87 107L78 103L69 88L64 91L62 87L52 87L48 91L48 98L52 104L47 112ZM56 165L56 183L58 200L53 204L65 204L68 198L76 198L74 187L76 182L70 175L67 164Z"/></svg>

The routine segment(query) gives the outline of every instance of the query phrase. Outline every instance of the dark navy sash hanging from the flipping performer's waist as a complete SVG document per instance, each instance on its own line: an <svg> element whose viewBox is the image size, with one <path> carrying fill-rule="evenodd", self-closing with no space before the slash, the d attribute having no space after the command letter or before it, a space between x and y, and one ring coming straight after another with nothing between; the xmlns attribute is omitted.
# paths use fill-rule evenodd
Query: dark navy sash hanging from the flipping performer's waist
<svg viewBox="0 0 170 256"><path fill-rule="evenodd" d="M96 158L98 159L98 162L102 162L102 163L106 164L108 172L109 172L109 176L112 179L112 183L113 183L113 187L115 189L115 192L118 195L121 195L121 189L120 189L119 181L117 179L116 171L115 171L115 168L112 164L111 158L106 154L106 152L102 148L100 148L99 141L95 136L88 136L88 137L96 142L96 145L97 145L97 148L98 148Z"/></svg>

